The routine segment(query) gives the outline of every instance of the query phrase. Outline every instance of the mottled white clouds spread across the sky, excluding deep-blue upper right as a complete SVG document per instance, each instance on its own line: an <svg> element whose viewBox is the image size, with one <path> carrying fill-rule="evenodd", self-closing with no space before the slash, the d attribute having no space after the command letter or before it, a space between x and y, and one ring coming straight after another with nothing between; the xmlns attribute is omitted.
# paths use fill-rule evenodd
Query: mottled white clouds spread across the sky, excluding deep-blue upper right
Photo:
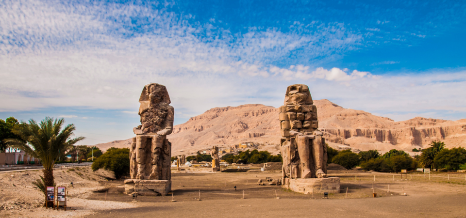
<svg viewBox="0 0 466 218"><path fill-rule="evenodd" d="M334 20L330 15L338 12L332 10L322 19L304 13L305 18L290 15L262 23L250 13L244 15L251 16L249 21L233 24L230 19L236 15L207 19L188 6L2 1L1 114L46 109L49 116L77 124L93 119L58 109L111 110L115 116L137 117L137 98L150 82L166 85L178 123L213 107L277 107L283 90L294 83L308 84L315 99L395 119L422 114L459 119L466 114L466 100L460 96L466 93L466 72L461 67L374 74L329 65L374 45L415 44L433 35L430 24L403 31L395 26L409 21L386 13L360 20L358 26ZM441 15L428 16L440 22ZM125 122L107 119L102 124L129 128L137 118Z"/></svg>

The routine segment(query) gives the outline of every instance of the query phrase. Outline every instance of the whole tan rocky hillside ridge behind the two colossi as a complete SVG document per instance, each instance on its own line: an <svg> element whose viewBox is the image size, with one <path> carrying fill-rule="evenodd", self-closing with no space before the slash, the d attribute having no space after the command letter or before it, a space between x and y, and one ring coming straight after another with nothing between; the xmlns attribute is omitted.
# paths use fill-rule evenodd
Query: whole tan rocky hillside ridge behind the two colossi
<svg viewBox="0 0 466 218"><path fill-rule="evenodd" d="M416 117L394 122L366 111L345 109L329 100L315 100L319 129L332 147L355 150L390 149L411 151L424 148L433 140L442 140L447 147L466 147L466 119L447 121ZM281 138L278 111L274 107L251 104L238 107L213 108L174 126L167 138L173 155L190 154L218 145L226 147L240 142L264 144L261 150L274 154ZM101 149L128 147L129 140L98 144Z"/></svg>

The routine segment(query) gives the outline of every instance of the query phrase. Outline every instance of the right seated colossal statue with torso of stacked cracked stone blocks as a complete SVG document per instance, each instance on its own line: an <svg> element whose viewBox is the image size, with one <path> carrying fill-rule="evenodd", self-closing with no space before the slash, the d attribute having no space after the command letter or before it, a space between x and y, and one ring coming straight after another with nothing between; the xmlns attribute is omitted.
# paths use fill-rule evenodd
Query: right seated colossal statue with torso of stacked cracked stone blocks
<svg viewBox="0 0 466 218"><path fill-rule="evenodd" d="M294 179L319 178L318 183L336 181L322 180L327 177L327 146L322 132L317 130L317 108L313 103L307 85L296 84L286 89L284 105L280 107L282 184L286 188L296 185L298 180Z"/></svg>

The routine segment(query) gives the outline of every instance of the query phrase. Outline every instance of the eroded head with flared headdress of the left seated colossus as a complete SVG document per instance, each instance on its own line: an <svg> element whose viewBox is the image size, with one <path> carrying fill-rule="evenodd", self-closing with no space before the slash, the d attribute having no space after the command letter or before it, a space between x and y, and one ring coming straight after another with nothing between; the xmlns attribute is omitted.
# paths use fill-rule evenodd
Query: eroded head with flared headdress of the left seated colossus
<svg viewBox="0 0 466 218"><path fill-rule="evenodd" d="M150 102L151 105L163 104L164 106L171 103L166 87L157 83L150 83L144 86L139 97L139 102Z"/></svg>

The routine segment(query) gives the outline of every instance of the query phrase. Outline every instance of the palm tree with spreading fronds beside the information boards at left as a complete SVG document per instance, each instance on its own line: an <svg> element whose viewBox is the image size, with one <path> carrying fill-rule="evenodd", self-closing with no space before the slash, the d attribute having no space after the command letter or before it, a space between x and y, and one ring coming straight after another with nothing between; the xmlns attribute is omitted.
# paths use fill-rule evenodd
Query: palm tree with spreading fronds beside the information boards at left
<svg viewBox="0 0 466 218"><path fill-rule="evenodd" d="M47 187L55 186L53 178L53 168L61 153L64 153L70 146L83 140L84 137L71 139L76 127L73 124L65 126L62 130L65 120L46 117L37 124L33 119L29 124L21 121L12 131L18 136L18 139L7 139L6 142L11 147L21 149L30 156L39 158L44 169L44 177L33 182L47 198Z"/></svg>

